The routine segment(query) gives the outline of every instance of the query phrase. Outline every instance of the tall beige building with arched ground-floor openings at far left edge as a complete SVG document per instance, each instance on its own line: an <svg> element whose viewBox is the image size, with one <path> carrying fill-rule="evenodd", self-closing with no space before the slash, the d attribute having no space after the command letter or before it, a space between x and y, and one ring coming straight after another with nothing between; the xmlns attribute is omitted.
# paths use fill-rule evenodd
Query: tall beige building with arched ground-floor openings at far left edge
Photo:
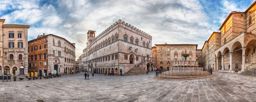
<svg viewBox="0 0 256 102"><path fill-rule="evenodd" d="M0 19L0 75L27 75L29 25L4 24Z"/></svg>

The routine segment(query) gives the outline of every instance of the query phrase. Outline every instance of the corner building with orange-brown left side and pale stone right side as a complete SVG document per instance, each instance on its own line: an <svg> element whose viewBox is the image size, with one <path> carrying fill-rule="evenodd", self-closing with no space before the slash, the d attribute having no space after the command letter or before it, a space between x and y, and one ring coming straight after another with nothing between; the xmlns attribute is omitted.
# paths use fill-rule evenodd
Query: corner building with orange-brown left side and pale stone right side
<svg viewBox="0 0 256 102"><path fill-rule="evenodd" d="M38 35L28 42L29 76L75 73L75 44L65 38Z"/></svg>

